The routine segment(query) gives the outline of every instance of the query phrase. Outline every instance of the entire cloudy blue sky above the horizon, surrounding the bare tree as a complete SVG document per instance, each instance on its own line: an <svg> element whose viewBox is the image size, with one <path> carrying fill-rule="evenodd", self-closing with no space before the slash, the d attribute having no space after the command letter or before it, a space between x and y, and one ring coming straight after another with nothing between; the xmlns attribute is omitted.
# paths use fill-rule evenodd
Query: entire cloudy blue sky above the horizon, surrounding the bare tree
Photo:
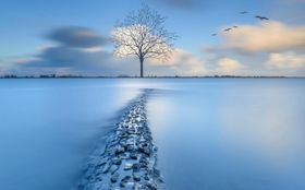
<svg viewBox="0 0 305 190"><path fill-rule="evenodd" d="M0 75L138 74L137 60L113 57L108 39L143 2L180 36L172 58L147 61L146 74L305 76L305 0L2 0Z"/></svg>

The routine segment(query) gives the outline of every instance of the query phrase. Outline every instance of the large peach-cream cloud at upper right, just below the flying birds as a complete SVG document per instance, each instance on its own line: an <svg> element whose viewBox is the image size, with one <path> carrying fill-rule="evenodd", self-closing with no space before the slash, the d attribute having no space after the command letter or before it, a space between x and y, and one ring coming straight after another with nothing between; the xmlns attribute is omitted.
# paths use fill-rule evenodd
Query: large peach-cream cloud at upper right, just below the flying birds
<svg viewBox="0 0 305 190"><path fill-rule="evenodd" d="M305 26L289 26L268 21L259 25L241 25L224 34L228 49L246 52L305 49Z"/></svg>

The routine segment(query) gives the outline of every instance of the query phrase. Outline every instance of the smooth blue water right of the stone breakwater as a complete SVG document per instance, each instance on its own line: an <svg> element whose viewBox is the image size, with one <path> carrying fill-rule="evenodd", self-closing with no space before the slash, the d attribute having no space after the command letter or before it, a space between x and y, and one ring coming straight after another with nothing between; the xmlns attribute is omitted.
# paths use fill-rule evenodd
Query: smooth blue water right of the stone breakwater
<svg viewBox="0 0 305 190"><path fill-rule="evenodd" d="M305 189L304 81L190 83L149 104L169 189Z"/></svg>

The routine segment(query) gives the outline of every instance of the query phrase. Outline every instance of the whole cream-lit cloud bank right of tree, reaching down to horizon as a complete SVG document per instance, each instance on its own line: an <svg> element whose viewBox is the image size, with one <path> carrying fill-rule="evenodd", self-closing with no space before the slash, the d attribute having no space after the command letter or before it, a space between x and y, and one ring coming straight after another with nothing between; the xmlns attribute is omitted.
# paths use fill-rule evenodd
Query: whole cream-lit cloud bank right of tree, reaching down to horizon
<svg viewBox="0 0 305 190"><path fill-rule="evenodd" d="M216 73L305 75L304 25L288 25L279 21L241 24L221 33L220 39L220 44L203 50L216 57L212 59ZM233 61L229 57L237 59Z"/></svg>

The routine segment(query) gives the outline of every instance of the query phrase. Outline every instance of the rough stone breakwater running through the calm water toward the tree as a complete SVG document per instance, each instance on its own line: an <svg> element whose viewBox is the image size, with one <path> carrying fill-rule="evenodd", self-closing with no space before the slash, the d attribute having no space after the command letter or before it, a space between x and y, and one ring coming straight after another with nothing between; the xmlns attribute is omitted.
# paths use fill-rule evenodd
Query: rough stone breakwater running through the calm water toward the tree
<svg viewBox="0 0 305 190"><path fill-rule="evenodd" d="M164 189L146 117L145 90L124 111L106 147L97 150L84 169L78 190Z"/></svg>

